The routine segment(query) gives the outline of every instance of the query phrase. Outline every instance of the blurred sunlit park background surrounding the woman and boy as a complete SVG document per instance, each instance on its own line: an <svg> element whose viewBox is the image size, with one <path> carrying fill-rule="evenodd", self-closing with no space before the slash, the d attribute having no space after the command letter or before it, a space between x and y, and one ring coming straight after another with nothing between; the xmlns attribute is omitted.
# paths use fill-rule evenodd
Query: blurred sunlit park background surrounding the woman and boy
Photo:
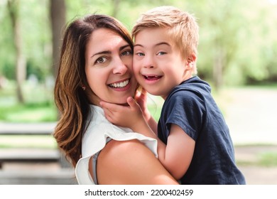
<svg viewBox="0 0 277 199"><path fill-rule="evenodd" d="M0 0L0 131L21 124L55 127L53 86L67 23L86 14L108 14L131 31L141 13L162 5L197 18L198 75L212 85L246 181L277 183L276 0ZM162 104L159 97L148 97L156 119ZM54 149L55 140L0 135L4 153L38 148Z"/></svg>

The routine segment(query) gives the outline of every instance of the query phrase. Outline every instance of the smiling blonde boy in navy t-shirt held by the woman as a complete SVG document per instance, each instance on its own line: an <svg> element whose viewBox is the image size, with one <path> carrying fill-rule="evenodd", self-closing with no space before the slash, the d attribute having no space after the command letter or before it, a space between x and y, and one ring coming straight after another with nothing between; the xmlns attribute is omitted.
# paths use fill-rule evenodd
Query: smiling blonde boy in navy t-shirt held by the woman
<svg viewBox="0 0 277 199"><path fill-rule="evenodd" d="M102 102L107 119L156 138L159 160L181 184L245 184L210 85L195 76L195 18L175 7L161 6L143 14L132 35L136 80L151 95L165 100L158 129L145 106L142 114L131 97L129 107ZM141 97L145 99L145 93Z"/></svg>

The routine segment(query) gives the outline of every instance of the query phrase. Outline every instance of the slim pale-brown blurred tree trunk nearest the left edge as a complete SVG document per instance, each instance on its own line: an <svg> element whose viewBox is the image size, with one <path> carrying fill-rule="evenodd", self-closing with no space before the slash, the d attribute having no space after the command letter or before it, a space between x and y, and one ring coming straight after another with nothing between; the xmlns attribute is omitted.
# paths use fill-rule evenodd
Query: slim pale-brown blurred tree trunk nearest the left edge
<svg viewBox="0 0 277 199"><path fill-rule="evenodd" d="M9 0L8 10L13 28L13 41L16 48L16 95L19 103L24 103L22 85L26 80L26 59L22 52L22 38L19 21L19 0Z"/></svg>

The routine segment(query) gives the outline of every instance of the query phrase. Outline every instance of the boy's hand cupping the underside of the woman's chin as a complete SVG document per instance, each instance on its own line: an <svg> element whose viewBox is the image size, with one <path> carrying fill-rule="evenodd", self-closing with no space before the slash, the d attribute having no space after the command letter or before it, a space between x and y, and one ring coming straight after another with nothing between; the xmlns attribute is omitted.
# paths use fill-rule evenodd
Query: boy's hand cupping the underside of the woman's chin
<svg viewBox="0 0 277 199"><path fill-rule="evenodd" d="M122 106L102 101L100 102L100 105L104 109L105 117L109 120L109 122L134 130L137 122L142 122L144 120L143 114L139 104L137 104L132 97L127 98L127 103L129 106Z"/></svg>

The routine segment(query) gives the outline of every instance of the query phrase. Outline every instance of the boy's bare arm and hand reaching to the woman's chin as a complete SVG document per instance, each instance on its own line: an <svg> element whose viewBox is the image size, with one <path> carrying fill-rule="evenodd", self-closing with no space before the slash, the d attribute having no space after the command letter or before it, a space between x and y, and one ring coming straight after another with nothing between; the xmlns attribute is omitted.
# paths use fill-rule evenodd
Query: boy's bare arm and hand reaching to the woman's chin
<svg viewBox="0 0 277 199"><path fill-rule="evenodd" d="M158 141L158 159L175 179L180 179L190 166L195 141L185 134L183 129L173 124L168 136L168 144L158 139L158 136L148 126L140 107L133 98L127 99L129 107L101 102L107 119L121 127L129 127L144 136Z"/></svg>

